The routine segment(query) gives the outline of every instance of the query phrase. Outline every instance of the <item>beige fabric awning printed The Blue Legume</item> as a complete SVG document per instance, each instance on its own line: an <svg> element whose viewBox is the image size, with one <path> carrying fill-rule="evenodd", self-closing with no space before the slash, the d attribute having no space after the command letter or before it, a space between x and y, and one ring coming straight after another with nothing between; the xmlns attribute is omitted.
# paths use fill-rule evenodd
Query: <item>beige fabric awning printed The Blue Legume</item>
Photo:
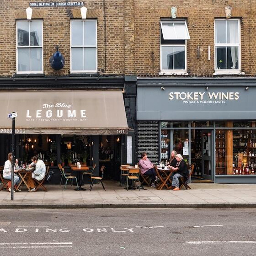
<svg viewBox="0 0 256 256"><path fill-rule="evenodd" d="M121 90L0 92L0 133L126 134Z"/></svg>

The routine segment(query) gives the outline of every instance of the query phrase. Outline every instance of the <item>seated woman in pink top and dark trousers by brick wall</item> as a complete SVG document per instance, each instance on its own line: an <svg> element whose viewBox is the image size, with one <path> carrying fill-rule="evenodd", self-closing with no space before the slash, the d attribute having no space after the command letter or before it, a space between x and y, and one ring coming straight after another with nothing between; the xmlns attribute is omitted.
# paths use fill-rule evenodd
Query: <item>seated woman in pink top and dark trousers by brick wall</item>
<svg viewBox="0 0 256 256"><path fill-rule="evenodd" d="M150 162L145 152L141 154L141 159L139 160L139 168L141 174L145 176L151 176L151 187L156 187L155 182L159 181L160 178L157 176L154 165Z"/></svg>

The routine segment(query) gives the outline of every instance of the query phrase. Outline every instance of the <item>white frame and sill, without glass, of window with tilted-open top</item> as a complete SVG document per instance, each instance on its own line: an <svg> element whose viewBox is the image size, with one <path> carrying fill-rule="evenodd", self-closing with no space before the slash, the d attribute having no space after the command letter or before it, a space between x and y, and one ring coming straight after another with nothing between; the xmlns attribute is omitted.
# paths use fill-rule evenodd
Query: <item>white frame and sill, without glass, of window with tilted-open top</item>
<svg viewBox="0 0 256 256"><path fill-rule="evenodd" d="M160 35L159 35L159 39L160 39L160 73L159 75L187 75L187 40L189 39L184 39L185 41L185 44L161 44L161 32L162 32L162 27L161 27L161 23L170 23L170 22L173 22L173 23L185 23L185 26L187 28L187 21L160 21ZM188 31L188 28L187 28L187 31ZM188 31L188 36L190 38L190 35L189 35L189 31ZM166 40L166 39L164 39ZM182 40L182 39L172 39L171 41L179 41L179 40ZM171 46L171 47L175 47L175 46L184 46L185 48L185 69L162 69L162 47L164 46Z"/></svg>

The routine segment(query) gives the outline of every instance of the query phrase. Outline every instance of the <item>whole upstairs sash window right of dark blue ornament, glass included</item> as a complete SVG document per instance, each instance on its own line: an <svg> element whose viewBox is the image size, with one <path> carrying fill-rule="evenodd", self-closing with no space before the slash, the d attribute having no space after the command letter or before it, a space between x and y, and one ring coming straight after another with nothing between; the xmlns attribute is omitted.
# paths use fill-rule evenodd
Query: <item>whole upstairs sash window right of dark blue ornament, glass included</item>
<svg viewBox="0 0 256 256"><path fill-rule="evenodd" d="M71 20L71 72L97 72L97 21Z"/></svg>

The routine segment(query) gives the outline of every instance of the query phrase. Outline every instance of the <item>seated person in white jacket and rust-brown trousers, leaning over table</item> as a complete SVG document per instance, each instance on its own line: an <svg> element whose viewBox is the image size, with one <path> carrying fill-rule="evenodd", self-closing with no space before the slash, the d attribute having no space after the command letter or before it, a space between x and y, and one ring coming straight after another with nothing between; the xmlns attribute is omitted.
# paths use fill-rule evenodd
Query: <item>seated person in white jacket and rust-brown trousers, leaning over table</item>
<svg viewBox="0 0 256 256"><path fill-rule="evenodd" d="M27 186L32 188L31 191L35 191L36 183L34 179L36 179L37 181L43 180L46 174L46 166L42 160L38 159L38 156L33 156L31 160L32 164L29 165L29 167L36 166L36 169L35 171L33 171L33 175L31 174L31 176L28 177Z"/></svg>

